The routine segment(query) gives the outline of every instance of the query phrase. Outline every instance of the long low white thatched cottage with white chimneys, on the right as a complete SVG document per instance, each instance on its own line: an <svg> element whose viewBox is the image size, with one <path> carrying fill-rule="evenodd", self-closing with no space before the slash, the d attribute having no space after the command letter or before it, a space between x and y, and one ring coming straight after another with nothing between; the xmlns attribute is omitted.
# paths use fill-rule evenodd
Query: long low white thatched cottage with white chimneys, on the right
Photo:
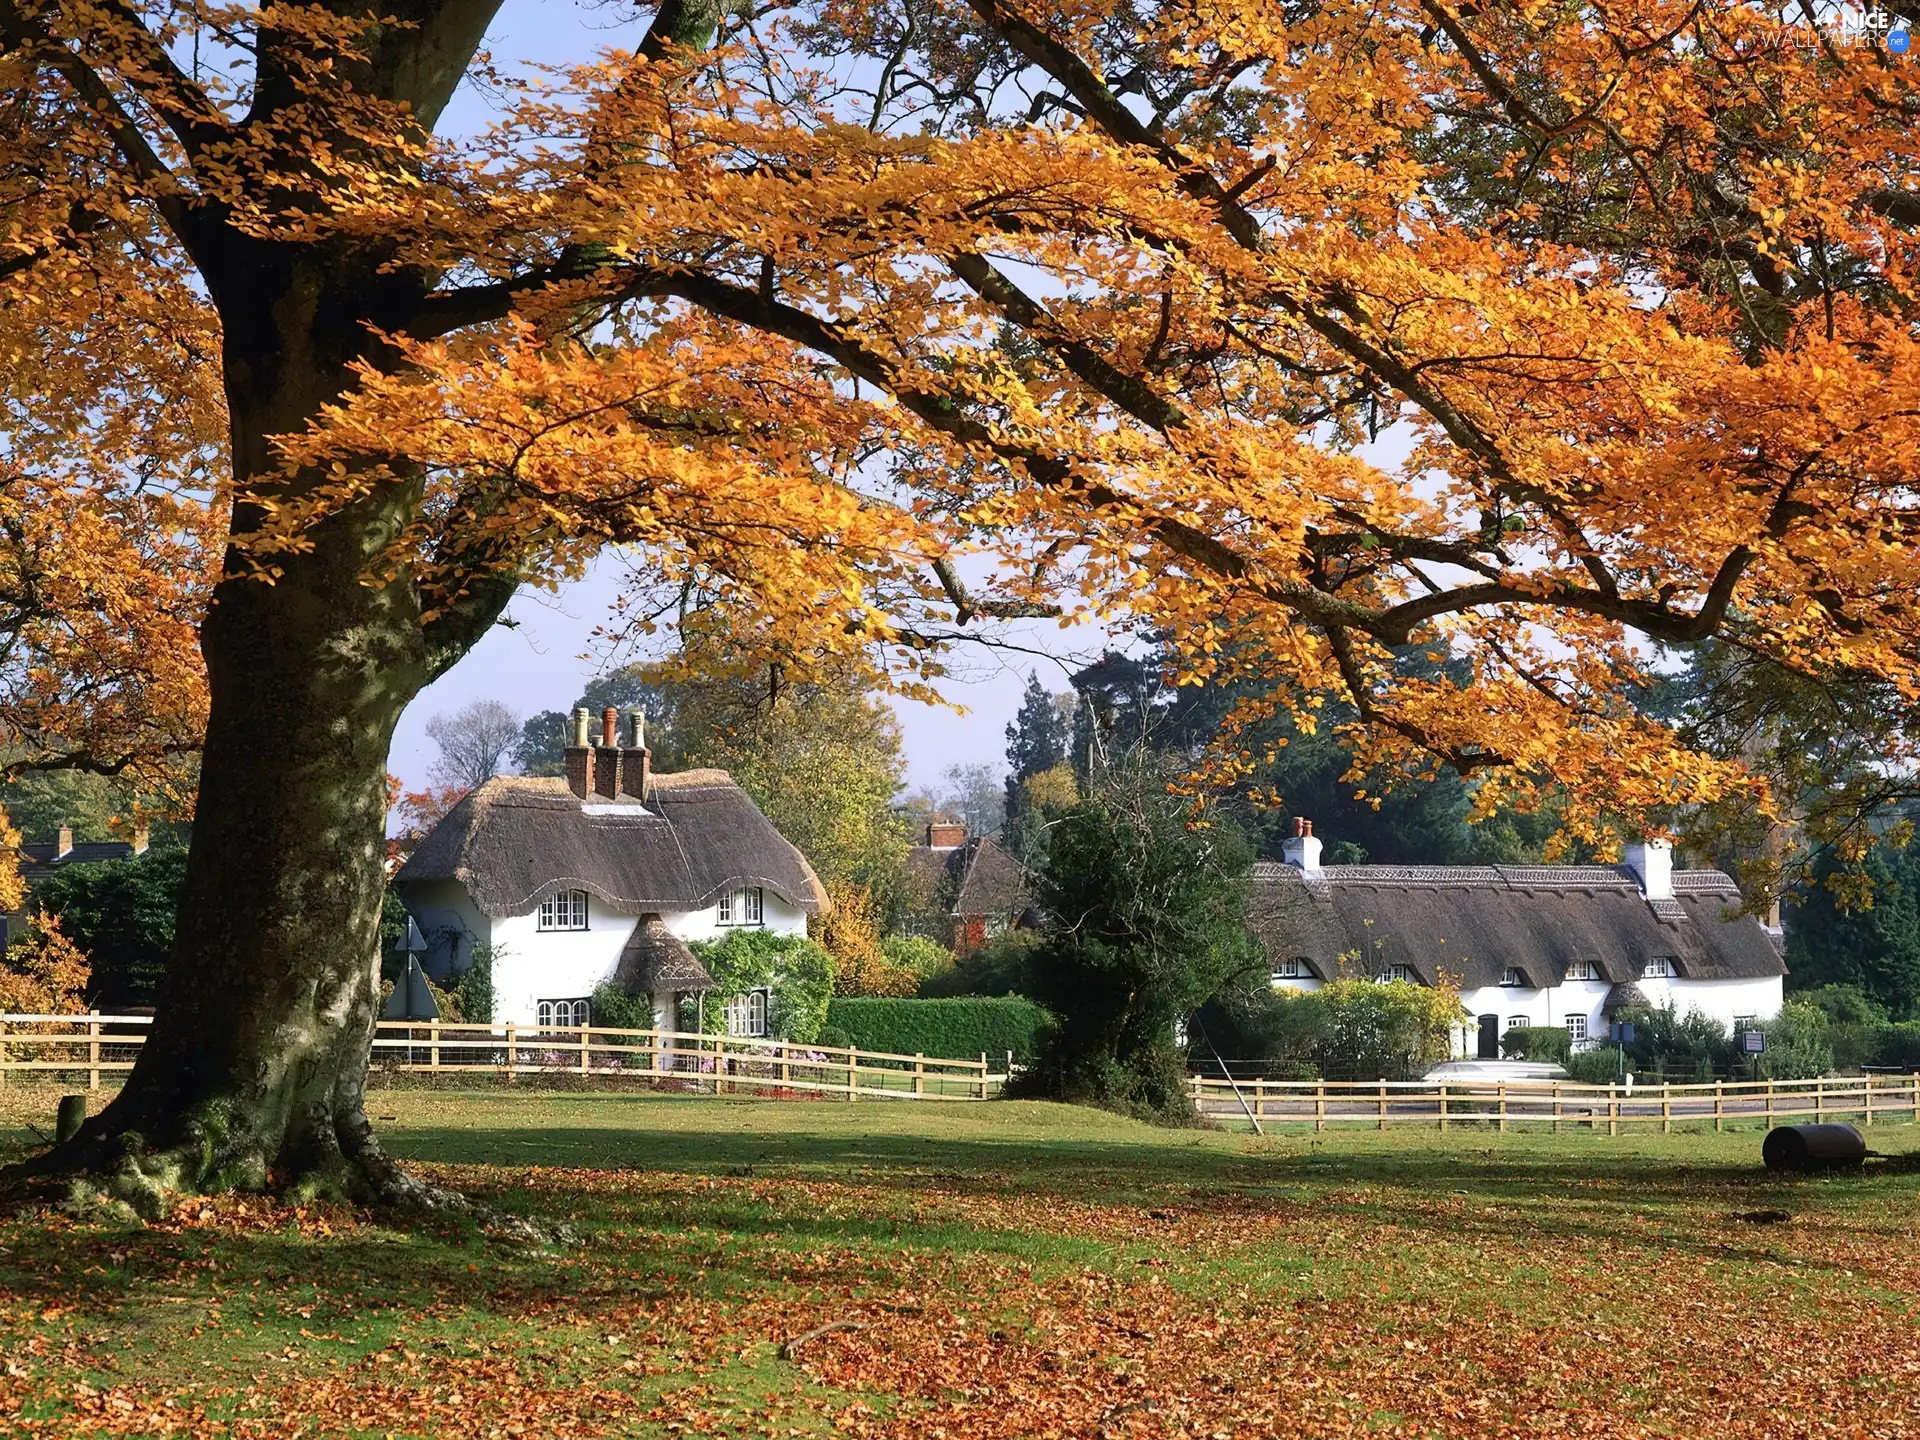
<svg viewBox="0 0 1920 1440"><path fill-rule="evenodd" d="M1250 920L1279 989L1344 975L1461 991L1467 1054L1492 1060L1517 1025L1603 1041L1630 1004L1724 1025L1780 1014L1778 935L1740 910L1720 870L1674 870L1667 841L1620 866L1321 866L1311 826L1284 864L1254 866Z"/></svg>

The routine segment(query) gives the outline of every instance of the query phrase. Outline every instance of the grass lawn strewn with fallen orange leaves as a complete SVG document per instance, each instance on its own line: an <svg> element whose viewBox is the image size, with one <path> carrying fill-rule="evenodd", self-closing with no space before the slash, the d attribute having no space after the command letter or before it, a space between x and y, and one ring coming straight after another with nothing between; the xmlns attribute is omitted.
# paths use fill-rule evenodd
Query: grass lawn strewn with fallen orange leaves
<svg viewBox="0 0 1920 1440"><path fill-rule="evenodd" d="M1774 1181L1755 1131L497 1091L374 1114L582 1244L238 1198L0 1219L0 1434L1920 1436L1920 1179ZM23 1117L0 1092L0 1158ZM1872 1144L1920 1160L1910 1125Z"/></svg>

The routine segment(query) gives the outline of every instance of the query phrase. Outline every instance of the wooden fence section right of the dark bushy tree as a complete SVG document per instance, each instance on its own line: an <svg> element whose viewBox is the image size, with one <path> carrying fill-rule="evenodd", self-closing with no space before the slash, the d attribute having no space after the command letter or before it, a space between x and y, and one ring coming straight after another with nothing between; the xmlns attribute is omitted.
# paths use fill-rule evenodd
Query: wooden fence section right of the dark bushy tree
<svg viewBox="0 0 1920 1440"><path fill-rule="evenodd" d="M1807 1081L1713 1081L1705 1085L1576 1085L1574 1081L1227 1081L1194 1075L1194 1104L1213 1119L1311 1125L1622 1125L1847 1119L1866 1125L1920 1119L1920 1075L1828 1075Z"/></svg>

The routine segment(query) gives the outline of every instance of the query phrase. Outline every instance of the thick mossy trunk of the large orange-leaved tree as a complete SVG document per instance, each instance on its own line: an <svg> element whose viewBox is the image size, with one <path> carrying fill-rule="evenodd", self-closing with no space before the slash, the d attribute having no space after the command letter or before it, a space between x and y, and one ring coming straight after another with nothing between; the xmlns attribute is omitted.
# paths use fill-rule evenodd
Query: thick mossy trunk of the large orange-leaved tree
<svg viewBox="0 0 1920 1440"><path fill-rule="evenodd" d="M346 363L369 346L369 296L392 286L340 259L276 263L259 250L234 267L244 290L217 292L242 488L273 470L269 436L305 428L348 388ZM273 582L228 553L202 628L211 710L154 1027L106 1112L33 1171L84 1177L144 1213L169 1192L227 1188L436 1198L386 1160L361 1100L378 1006L386 758L401 710L511 588L467 616L451 653L430 643L405 566L369 582L419 499L401 480L330 515L311 549L275 559ZM236 536L257 524L257 509L236 507Z"/></svg>

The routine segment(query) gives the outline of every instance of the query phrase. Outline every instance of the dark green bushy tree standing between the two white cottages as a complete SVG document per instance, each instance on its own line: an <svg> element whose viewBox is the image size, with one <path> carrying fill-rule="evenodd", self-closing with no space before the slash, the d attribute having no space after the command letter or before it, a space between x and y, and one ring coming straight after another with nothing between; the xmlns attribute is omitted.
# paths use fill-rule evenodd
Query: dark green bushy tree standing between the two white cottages
<svg viewBox="0 0 1920 1440"><path fill-rule="evenodd" d="M1202 824L1194 824L1200 820ZM1190 1121L1177 1027L1263 972L1246 929L1254 852L1231 820L1196 816L1135 751L1098 772L1048 839L1037 899L1050 927L1025 991L1060 1023L1020 1092Z"/></svg>

